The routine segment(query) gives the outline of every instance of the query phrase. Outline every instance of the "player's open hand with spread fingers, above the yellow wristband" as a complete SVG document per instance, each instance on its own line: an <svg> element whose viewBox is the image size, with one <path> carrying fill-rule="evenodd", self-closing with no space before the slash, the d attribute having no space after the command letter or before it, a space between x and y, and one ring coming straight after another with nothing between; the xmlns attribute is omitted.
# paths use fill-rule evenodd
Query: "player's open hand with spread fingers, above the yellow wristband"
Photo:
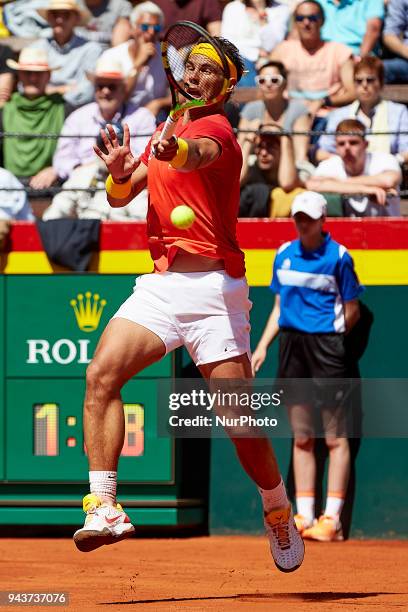
<svg viewBox="0 0 408 612"><path fill-rule="evenodd" d="M135 159L130 150L130 132L126 123L123 125L123 145L119 144L116 132L110 123L106 129L109 138L105 130L101 130L101 138L108 152L104 153L97 145L94 145L94 151L105 162L113 180L119 182L139 167L140 159Z"/></svg>

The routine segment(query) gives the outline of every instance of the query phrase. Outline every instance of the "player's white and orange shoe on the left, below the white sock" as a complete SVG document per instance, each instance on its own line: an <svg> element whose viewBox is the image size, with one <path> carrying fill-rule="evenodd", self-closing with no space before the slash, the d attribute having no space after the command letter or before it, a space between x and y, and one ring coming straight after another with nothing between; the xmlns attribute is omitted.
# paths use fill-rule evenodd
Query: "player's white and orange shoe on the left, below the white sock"
<svg viewBox="0 0 408 612"><path fill-rule="evenodd" d="M105 544L115 544L133 535L135 528L120 504L110 506L94 493L85 495L85 524L74 533L74 542L81 552L90 552Z"/></svg>

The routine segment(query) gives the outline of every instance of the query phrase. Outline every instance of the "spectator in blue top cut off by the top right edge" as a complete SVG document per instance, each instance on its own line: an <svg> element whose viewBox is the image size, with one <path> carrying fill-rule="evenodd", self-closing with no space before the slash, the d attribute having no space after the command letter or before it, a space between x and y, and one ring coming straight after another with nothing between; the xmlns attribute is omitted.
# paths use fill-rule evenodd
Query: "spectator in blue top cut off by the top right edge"
<svg viewBox="0 0 408 612"><path fill-rule="evenodd" d="M386 83L408 83L408 1L390 0L383 32L384 45L397 57L384 60Z"/></svg>

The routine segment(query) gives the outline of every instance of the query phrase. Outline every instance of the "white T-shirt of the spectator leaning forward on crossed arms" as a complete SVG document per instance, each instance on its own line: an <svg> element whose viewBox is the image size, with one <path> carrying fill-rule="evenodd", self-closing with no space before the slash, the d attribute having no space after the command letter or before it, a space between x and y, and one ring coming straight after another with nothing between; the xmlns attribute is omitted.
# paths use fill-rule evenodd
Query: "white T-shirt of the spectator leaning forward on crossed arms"
<svg viewBox="0 0 408 612"><path fill-rule="evenodd" d="M387 170L393 170L401 174L401 169L395 157L389 153L366 153L366 160L363 175L374 176ZM345 180L348 175L344 167L344 162L339 155L333 155L329 159L325 159L317 166L314 176L322 176L325 178L335 178L337 180ZM402 177L401 177L402 178ZM364 213L367 208L368 196L347 196L347 200L352 208L357 213ZM387 211L391 217L401 216L400 197L399 195L387 198Z"/></svg>

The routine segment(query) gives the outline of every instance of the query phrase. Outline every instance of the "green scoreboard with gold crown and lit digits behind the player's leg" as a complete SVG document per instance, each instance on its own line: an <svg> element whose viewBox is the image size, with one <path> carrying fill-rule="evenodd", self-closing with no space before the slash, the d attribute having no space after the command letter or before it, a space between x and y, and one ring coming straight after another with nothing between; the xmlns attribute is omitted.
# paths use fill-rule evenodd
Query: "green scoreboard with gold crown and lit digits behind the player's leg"
<svg viewBox="0 0 408 612"><path fill-rule="evenodd" d="M0 525L47 524L51 509L54 523L82 522L85 371L133 283L120 274L0 277ZM206 500L188 495L179 465L181 441L158 434L159 386L172 384L177 360L165 357L122 392L118 498L139 525L205 523Z"/></svg>

